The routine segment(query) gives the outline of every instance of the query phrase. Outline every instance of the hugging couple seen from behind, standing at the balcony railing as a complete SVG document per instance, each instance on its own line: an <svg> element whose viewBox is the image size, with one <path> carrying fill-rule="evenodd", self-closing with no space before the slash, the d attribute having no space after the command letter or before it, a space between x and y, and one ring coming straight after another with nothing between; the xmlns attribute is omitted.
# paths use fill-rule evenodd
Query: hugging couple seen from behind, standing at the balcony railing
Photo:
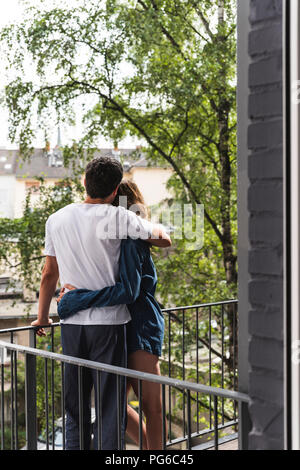
<svg viewBox="0 0 300 470"><path fill-rule="evenodd" d="M38 319L32 325L51 323L49 308L59 279L64 354L160 374L164 319L154 297L157 277L150 249L168 247L171 240L160 225L147 220L138 187L122 178L117 160L95 158L85 171L85 201L47 220ZM37 334L45 335L44 329L37 328ZM83 369L84 449L90 448L91 391L94 387L97 400L97 386L96 371ZM127 405L131 387L137 395L137 381L121 377L122 448L125 430L134 441L139 438L138 414ZM102 372L100 392L102 449L117 449L120 410L114 374ZM160 385L143 382L142 400L144 448L161 449ZM65 406L66 449L79 449L78 371L71 364L65 365Z"/></svg>

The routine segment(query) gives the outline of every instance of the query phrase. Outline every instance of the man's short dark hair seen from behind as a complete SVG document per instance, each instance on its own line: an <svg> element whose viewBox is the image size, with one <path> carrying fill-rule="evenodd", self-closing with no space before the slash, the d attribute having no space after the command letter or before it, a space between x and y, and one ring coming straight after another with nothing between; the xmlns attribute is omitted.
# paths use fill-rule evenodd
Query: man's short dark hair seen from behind
<svg viewBox="0 0 300 470"><path fill-rule="evenodd" d="M108 197L120 184L123 178L123 167L118 160L111 157L94 158L85 169L85 187L93 199Z"/></svg>

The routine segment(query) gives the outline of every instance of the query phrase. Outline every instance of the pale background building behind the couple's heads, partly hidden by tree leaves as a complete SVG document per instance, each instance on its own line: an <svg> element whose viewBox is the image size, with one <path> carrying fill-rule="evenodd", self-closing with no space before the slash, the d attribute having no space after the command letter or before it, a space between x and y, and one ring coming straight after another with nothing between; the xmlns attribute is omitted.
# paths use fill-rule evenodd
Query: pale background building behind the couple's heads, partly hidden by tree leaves
<svg viewBox="0 0 300 470"><path fill-rule="evenodd" d="M101 149L95 156L108 155L119 159L124 166L124 177L139 186L148 206L169 198L171 194L166 184L172 169L151 166L143 154L138 158L136 155L133 158L133 154L136 154L136 149ZM67 176L72 177L72 171L64 168L61 154L55 149L48 152L36 149L31 160L26 162L20 160L17 150L0 149L0 217L22 216L28 189L39 186L37 177L43 177L45 184L51 185Z"/></svg>

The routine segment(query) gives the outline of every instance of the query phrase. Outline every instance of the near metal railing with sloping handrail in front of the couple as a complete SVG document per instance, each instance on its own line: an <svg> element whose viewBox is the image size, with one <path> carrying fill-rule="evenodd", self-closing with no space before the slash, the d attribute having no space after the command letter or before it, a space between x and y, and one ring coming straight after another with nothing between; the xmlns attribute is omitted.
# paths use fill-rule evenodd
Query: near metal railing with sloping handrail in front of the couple
<svg viewBox="0 0 300 470"><path fill-rule="evenodd" d="M242 403L247 403L248 402L248 397L244 394L233 392L233 391L228 391L224 389L218 389L215 387L207 387L204 385L200 384L193 384L191 382L187 381L182 381L182 380L176 380L176 379L171 379L168 377L161 377L153 374L146 374L146 373L141 373L137 371L132 371L129 369L124 369L120 367L114 367L110 366L107 364L100 364L92 361L86 361L83 359L79 358L74 358L70 356L64 356L61 354L56 354L48 351L43 351L43 350L38 350L35 348L29 348L25 346L19 346L15 345L13 343L6 343L3 341L0 341L0 349L9 349L12 352L12 364L13 364L13 369L14 369L14 377L12 378L13 380L13 401L12 404L14 404L13 410L12 410L12 422L11 422L11 430L12 430L12 449L18 449L18 414L17 414L17 401L16 401L16 396L17 396L17 369L16 369L16 354L22 354L24 355L25 358L25 416L26 416L26 449L28 450L35 450L37 449L37 404L36 404L36 358L42 358L44 360L45 364L45 369L46 369L46 364L48 361L51 361L52 363L57 363L60 365L61 368L61 377L62 377L62 388L61 388L61 417L65 416L65 407L64 407L64 380L63 380L63 372L64 372L64 367L65 364L72 364L75 365L78 369L78 394L79 397L82 397L82 371L84 368L89 368L97 371L97 377L99 382L101 381L101 373L106 372L110 374L114 374L116 376L116 380L119 380L121 376L125 377L130 377L133 379L136 379L139 383L139 404L140 404L140 409L139 409L139 419L140 419L140 433L139 433L139 448L143 448L143 437L142 437L142 408L141 408L141 403L142 403L142 384L145 382L154 382L154 383L159 383L162 386L162 426L163 426L163 448L167 448L172 444L172 442L167 439L167 433L165 426L163 423L165 423L165 420L168 419L167 413L166 413L166 388L171 389L176 389L180 390L182 393L186 394L186 431L184 435L181 438L181 442L186 442L186 448L187 449L192 449L197 448L197 446L193 446L193 439L195 438L195 434L192 432L192 398L195 399L196 396L198 395L207 395L209 397L212 397L213 403L214 403L214 423L213 423L213 428L212 432L214 433L213 437L213 447L217 450L219 447L219 435L220 432L222 431L222 426L220 426L220 420L219 420L219 401L222 399L229 399L231 401L234 401L240 405ZM100 393L100 388L98 387L98 391ZM74 391L75 392L75 391ZM3 390L2 390L3 393ZM48 394L48 389L46 388L46 396ZM80 428L80 448L83 449L83 403L82 400L79 398L79 428ZM116 406L120 409L120 403L121 403L121 396L120 396L120 387L118 387L118 393L116 396ZM102 407L102 401L101 401L101 396L98 395L98 408L100 409ZM54 408L53 408L54 410ZM99 413L99 410L97 410ZM2 416L3 416L3 408L1 410ZM100 413L98 414L98 417ZM118 413L119 415L119 413ZM170 418L170 416L169 416ZM63 436L63 441L62 441L62 448L65 448L65 428L64 428L64 419L62 419L63 423L63 429L62 429L62 436ZM49 415L46 414L46 448L50 447L50 439L49 439ZM101 449L101 417L98 419L98 449ZM55 433L55 423L54 423L54 414L52 414L52 435L53 435L53 430ZM121 421L119 420L118 422L118 448L121 450ZM178 442L178 440L177 440ZM51 440L52 443L52 448L56 448L55 444L55 439ZM1 444L4 448L4 422L1 423ZM198 446L199 448L199 446Z"/></svg>

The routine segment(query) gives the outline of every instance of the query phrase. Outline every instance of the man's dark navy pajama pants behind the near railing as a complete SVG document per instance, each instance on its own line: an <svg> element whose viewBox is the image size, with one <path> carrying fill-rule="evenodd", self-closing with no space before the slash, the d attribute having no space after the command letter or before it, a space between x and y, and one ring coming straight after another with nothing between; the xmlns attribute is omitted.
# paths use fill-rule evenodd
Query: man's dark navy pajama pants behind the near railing
<svg viewBox="0 0 300 470"><path fill-rule="evenodd" d="M125 325L61 325L63 353L95 362L126 367ZM83 369L84 449L91 442L91 391L94 386L97 412L97 372ZM118 449L117 376L101 372L102 449ZM78 367L65 364L66 449L79 449ZM126 379L120 376L121 449L126 428ZM98 419L98 417L97 417ZM94 447L97 449L97 422Z"/></svg>

